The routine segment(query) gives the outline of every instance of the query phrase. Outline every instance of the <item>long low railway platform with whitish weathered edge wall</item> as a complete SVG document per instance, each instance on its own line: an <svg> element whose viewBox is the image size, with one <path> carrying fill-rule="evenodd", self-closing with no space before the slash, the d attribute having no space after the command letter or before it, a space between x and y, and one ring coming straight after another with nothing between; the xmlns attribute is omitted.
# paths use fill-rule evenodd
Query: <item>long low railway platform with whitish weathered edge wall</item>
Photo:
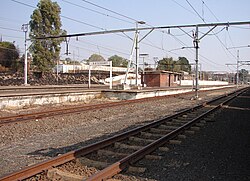
<svg viewBox="0 0 250 181"><path fill-rule="evenodd" d="M233 87L200 87L200 91ZM136 90L108 89L104 85L54 85L54 86L1 86L0 109L20 109L36 105L88 102L92 99L107 98L130 100L155 96L191 93L193 87L143 88Z"/></svg>

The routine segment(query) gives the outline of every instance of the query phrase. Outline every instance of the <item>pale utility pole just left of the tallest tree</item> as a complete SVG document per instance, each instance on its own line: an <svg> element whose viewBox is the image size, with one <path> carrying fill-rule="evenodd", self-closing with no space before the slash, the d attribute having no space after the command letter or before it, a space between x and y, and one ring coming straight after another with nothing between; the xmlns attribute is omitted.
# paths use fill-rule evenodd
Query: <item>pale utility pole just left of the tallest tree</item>
<svg viewBox="0 0 250 181"><path fill-rule="evenodd" d="M24 85L28 85L28 61L27 61L27 32L28 24L22 25L22 30L24 32Z"/></svg>

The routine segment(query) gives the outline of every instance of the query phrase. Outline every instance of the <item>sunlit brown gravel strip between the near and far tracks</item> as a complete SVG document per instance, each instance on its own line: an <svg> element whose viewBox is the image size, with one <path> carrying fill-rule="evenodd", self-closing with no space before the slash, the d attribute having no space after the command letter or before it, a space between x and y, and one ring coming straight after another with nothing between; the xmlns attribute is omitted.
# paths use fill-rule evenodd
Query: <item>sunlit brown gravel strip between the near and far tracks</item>
<svg viewBox="0 0 250 181"><path fill-rule="evenodd" d="M216 93L204 92L200 94L202 100L197 101L191 100L191 96L188 95L1 126L0 176L173 114L232 90L231 88ZM25 110L25 112L33 111L37 111L37 108ZM1 115L5 114L1 112Z"/></svg>

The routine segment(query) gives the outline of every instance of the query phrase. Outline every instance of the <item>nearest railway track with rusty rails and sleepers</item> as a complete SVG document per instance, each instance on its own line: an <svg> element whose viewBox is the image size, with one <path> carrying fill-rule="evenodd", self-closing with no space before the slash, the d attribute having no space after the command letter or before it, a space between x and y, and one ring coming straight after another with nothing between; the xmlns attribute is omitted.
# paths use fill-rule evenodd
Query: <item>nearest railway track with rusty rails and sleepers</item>
<svg viewBox="0 0 250 181"><path fill-rule="evenodd" d="M144 171L133 167L142 158L161 159L169 144L179 144L186 134L193 134L214 116L223 105L246 89L220 96L212 101L156 120L109 139L71 151L51 160L6 175L0 180L105 180L124 170Z"/></svg>

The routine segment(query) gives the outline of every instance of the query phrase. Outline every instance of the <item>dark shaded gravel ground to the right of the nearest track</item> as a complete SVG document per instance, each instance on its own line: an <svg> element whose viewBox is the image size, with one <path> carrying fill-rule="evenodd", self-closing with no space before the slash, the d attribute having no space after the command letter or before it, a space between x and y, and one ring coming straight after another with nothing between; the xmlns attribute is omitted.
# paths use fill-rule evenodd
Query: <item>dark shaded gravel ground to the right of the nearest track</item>
<svg viewBox="0 0 250 181"><path fill-rule="evenodd" d="M250 91L232 101L205 127L180 145L171 146L161 161L150 165L141 178L159 181L249 181ZM241 109L243 108L243 109ZM246 109L245 109L246 108ZM138 178L138 175L134 175ZM142 180L142 179L141 179Z"/></svg>

